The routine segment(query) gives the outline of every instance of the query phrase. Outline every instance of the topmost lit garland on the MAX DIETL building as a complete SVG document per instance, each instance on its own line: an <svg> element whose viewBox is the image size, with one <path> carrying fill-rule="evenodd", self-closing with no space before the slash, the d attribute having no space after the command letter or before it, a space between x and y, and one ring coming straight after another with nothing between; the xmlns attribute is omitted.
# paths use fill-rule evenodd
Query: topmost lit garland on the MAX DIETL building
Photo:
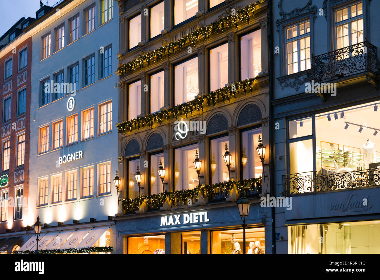
<svg viewBox="0 0 380 280"><path fill-rule="evenodd" d="M186 45L186 43L195 44L196 41L200 39L204 39L207 41L210 35L215 35L219 33L223 33L226 28L232 29L236 28L238 23L249 23L250 14L253 14L253 10L257 5L263 3L263 0L259 0L256 3L250 4L244 8L241 8L236 11L236 14L228 15L218 19L215 22L212 22L209 25L198 28L197 30L183 36L177 41L171 42L165 46L162 46L158 49L150 51L147 54L141 55L136 59L131 60L128 63L122 64L117 68L119 71L119 75L125 75L127 73L132 73L132 71L137 69L144 68L144 65L148 66L152 62L158 62L163 58L164 55L173 54L175 49L178 47L178 50L182 49Z"/></svg>

